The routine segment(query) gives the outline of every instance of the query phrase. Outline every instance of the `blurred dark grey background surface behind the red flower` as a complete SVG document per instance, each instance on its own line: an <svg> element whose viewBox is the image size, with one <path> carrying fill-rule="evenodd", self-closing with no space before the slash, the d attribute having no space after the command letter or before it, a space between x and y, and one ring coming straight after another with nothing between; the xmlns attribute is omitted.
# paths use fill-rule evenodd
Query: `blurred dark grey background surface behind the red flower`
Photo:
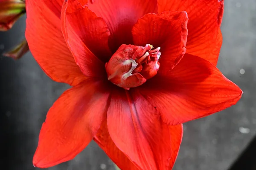
<svg viewBox="0 0 256 170"><path fill-rule="evenodd" d="M9 32L0 32L0 53L24 38L25 19ZM227 170L256 135L256 0L226 0L221 29L218 68L244 94L235 106L184 124L174 170ZM69 86L48 78L30 52L18 61L1 57L0 75L0 167L35 170L32 157L41 124L49 107ZM91 142L72 161L48 170L80 169L114 167Z"/></svg>

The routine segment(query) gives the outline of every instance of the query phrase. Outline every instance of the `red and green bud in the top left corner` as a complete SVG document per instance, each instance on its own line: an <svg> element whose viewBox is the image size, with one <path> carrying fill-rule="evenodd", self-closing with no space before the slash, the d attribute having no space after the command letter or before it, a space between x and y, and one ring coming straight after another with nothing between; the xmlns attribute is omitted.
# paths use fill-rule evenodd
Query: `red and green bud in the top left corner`
<svg viewBox="0 0 256 170"><path fill-rule="evenodd" d="M0 0L0 31L11 29L25 13L25 0Z"/></svg>

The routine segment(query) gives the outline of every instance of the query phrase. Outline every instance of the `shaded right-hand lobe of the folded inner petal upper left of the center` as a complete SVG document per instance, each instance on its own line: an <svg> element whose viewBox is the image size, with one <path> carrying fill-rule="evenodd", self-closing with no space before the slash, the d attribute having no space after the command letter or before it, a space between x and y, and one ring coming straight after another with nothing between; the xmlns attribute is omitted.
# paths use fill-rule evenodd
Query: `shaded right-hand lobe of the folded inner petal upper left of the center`
<svg viewBox="0 0 256 170"><path fill-rule="evenodd" d="M81 6L76 0L69 0L68 2L66 4L66 20L76 35L67 32L67 36L77 36L79 42L84 43L85 48L90 49L104 63L108 62L112 53L108 48L110 32L107 24L102 18L97 17L94 12L90 11L87 6ZM74 44L69 43L73 49L72 45Z"/></svg>

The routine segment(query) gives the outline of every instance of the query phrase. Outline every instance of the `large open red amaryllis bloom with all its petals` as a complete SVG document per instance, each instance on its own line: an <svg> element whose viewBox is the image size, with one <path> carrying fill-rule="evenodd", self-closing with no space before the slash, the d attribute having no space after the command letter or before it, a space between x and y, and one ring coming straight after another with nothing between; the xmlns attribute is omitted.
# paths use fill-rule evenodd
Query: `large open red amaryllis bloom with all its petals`
<svg viewBox="0 0 256 170"><path fill-rule="evenodd" d="M73 86L49 109L36 167L93 139L121 169L172 169L182 123L241 98L215 67L221 0L27 0L26 10L36 61Z"/></svg>

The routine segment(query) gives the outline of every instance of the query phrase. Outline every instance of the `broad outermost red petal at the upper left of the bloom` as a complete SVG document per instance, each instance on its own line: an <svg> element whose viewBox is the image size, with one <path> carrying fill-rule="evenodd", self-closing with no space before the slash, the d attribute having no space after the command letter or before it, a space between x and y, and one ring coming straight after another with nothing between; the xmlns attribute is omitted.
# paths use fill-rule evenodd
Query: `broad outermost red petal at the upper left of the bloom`
<svg viewBox="0 0 256 170"><path fill-rule="evenodd" d="M42 0L26 0L26 11L26 39L44 72L54 81L72 86L84 81L86 77L76 65L63 38L60 19Z"/></svg>

